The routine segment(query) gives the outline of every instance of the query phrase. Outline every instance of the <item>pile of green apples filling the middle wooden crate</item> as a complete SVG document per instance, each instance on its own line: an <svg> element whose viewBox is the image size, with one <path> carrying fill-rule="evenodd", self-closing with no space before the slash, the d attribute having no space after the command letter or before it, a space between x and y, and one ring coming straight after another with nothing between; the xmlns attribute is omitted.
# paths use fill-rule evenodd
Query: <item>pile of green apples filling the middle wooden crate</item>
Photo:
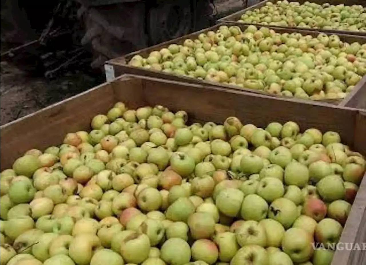
<svg viewBox="0 0 366 265"><path fill-rule="evenodd" d="M135 55L128 65L303 99L340 99L366 74L366 44L337 35L220 26L183 45Z"/></svg>

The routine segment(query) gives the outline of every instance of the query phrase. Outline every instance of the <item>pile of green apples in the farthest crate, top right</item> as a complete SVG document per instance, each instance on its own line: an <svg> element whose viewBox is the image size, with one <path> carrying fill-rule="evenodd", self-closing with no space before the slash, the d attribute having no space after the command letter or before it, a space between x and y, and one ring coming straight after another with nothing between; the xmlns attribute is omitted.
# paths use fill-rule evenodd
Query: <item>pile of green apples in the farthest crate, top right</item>
<svg viewBox="0 0 366 265"><path fill-rule="evenodd" d="M322 5L306 1L267 2L261 8L245 12L239 22L285 26L305 27L326 30L366 31L366 10L362 5Z"/></svg>

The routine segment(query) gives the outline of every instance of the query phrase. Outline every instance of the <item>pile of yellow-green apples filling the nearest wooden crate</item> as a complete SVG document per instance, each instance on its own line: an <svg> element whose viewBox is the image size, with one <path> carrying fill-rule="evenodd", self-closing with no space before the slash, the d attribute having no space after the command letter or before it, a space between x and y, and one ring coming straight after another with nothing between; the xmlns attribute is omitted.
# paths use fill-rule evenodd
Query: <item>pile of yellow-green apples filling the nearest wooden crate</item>
<svg viewBox="0 0 366 265"><path fill-rule="evenodd" d="M330 264L362 155L293 121L187 119L118 102L16 159L0 173L0 265Z"/></svg>

